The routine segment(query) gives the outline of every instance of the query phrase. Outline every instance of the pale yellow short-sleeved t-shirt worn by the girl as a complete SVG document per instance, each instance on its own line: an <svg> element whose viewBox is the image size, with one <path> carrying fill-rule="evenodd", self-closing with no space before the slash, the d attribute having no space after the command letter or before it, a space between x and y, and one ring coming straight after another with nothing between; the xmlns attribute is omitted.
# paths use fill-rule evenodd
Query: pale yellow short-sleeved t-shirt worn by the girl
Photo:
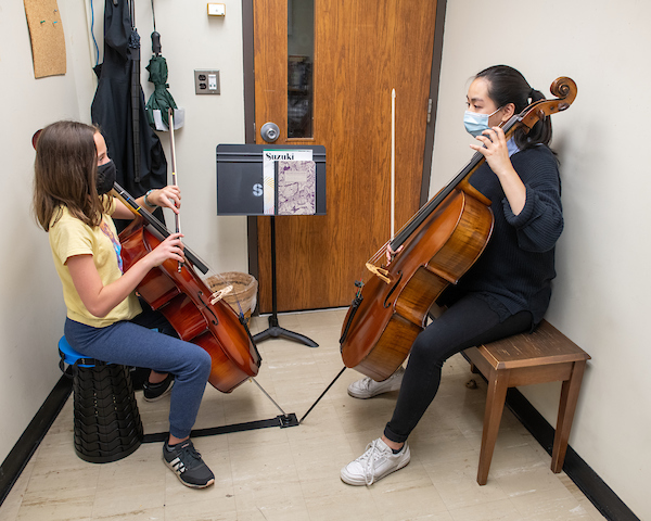
<svg viewBox="0 0 651 521"><path fill-rule="evenodd" d="M49 231L52 258L63 285L67 317L93 328L104 328L119 320L129 320L142 312L138 297L131 293L111 309L105 317L95 317L79 298L66 265L67 259L74 255L92 255L104 285L122 277L122 258L119 256L122 245L115 224L111 218L114 211L115 201L111 204L108 215L102 216L100 226L91 228L73 217L67 207L62 206L61 212L56 212L52 218Z"/></svg>

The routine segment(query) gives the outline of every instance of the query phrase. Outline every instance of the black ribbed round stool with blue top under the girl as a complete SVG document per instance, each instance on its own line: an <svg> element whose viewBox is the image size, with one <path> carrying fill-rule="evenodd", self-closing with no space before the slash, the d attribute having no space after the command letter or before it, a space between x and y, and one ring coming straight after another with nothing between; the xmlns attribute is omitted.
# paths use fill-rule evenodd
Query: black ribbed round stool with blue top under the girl
<svg viewBox="0 0 651 521"><path fill-rule="evenodd" d="M142 442L142 422L129 370L85 358L62 336L60 367L72 367L75 401L75 452L93 463L126 458Z"/></svg>

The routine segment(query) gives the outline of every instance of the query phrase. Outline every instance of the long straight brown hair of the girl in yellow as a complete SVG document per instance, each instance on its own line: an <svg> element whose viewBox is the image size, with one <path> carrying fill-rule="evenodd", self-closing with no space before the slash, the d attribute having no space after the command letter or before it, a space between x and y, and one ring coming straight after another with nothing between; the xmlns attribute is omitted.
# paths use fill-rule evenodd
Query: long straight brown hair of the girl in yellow
<svg viewBox="0 0 651 521"><path fill-rule="evenodd" d="M43 230L50 229L61 206L88 226L102 221L105 207L95 186L98 131L78 122L56 122L41 130L34 162L34 213Z"/></svg>

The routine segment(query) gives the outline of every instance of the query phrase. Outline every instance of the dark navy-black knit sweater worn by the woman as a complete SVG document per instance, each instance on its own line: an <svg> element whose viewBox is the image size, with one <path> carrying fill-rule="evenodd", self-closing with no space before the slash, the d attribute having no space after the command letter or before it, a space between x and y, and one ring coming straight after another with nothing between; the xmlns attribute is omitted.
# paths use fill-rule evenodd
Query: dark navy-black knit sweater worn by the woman
<svg viewBox="0 0 651 521"><path fill-rule="evenodd" d="M501 320L528 310L538 323L549 305L554 244L563 231L561 181L557 160L545 145L516 152L511 163L526 187L524 208L513 215L487 164L475 171L470 182L493 202L495 227L486 250L451 293L475 293Z"/></svg>

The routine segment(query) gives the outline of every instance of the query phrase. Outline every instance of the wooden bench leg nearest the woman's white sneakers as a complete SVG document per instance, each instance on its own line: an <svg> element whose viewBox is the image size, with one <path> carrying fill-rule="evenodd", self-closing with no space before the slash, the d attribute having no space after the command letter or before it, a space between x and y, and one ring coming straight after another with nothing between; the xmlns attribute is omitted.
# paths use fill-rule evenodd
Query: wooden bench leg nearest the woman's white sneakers
<svg viewBox="0 0 651 521"><path fill-rule="evenodd" d="M493 450L497 441L497 433L501 422L507 389L509 387L508 371L492 371L488 380L488 395L486 396L486 410L484 412L484 431L482 433L482 449L480 452L480 469L477 483L485 485L488 480L488 470L493 460Z"/></svg>

